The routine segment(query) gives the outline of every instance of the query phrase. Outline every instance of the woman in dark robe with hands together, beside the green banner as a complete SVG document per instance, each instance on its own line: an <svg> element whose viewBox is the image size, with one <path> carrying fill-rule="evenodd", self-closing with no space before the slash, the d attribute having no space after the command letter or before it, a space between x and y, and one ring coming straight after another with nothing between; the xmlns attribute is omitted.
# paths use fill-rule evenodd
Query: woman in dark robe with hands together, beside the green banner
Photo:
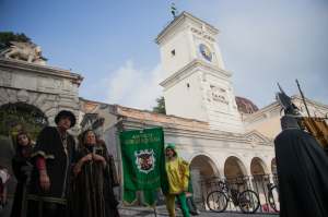
<svg viewBox="0 0 328 217"><path fill-rule="evenodd" d="M73 158L77 177L72 216L118 217L117 204L112 203L113 188L118 185L113 156L106 145L96 140L93 131L81 134Z"/></svg>

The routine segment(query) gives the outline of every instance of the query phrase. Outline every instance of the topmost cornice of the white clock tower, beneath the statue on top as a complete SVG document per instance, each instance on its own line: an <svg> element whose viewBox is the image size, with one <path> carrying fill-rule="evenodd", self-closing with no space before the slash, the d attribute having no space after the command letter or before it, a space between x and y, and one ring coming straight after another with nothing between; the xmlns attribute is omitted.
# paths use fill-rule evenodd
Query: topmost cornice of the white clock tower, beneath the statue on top
<svg viewBox="0 0 328 217"><path fill-rule="evenodd" d="M219 31L214 28L212 25L199 20L198 17L191 15L188 12L183 12L178 17L176 17L164 31L162 31L159 36L154 39L156 44L161 44L164 38L168 37L169 33L174 33L174 28L178 28L181 25L186 24L187 21L191 21L192 24L201 26L202 24L207 24L207 32L210 35L215 36Z"/></svg>

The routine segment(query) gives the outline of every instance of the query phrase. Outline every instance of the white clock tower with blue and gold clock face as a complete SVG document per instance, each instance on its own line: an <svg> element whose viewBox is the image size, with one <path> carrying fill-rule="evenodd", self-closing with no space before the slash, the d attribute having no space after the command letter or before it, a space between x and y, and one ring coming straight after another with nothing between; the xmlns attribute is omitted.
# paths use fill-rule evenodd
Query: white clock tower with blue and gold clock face
<svg viewBox="0 0 328 217"><path fill-rule="evenodd" d="M218 33L183 12L154 40L161 49L166 113L209 122L212 130L245 133Z"/></svg>

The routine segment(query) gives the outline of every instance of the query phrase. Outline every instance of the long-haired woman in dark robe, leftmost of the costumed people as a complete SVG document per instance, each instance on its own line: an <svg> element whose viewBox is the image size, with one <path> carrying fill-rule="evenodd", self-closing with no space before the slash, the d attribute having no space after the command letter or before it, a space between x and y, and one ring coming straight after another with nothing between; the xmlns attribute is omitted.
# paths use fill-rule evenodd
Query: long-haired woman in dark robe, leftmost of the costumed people
<svg viewBox="0 0 328 217"><path fill-rule="evenodd" d="M38 215L38 203L27 200L27 191L30 186L30 173L33 168L30 162L30 157L34 145L27 133L20 133L16 135L16 149L12 157L12 171L17 180L13 205L11 209L11 217L35 217ZM28 204L28 209L27 209Z"/></svg>

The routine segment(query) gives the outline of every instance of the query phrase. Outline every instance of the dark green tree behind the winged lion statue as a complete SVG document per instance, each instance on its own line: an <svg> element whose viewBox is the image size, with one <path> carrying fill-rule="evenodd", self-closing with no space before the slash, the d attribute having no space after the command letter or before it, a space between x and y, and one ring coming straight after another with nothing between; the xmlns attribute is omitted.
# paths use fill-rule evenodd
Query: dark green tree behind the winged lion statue
<svg viewBox="0 0 328 217"><path fill-rule="evenodd" d="M0 32L0 53L3 52L4 50L11 48L12 44L10 41L20 41L20 43L32 43L31 38L25 36L24 33L16 33L14 34L13 32ZM34 43L33 43L34 44ZM36 44L34 44L36 47ZM1 57L4 57L2 55ZM23 60L26 60L22 58ZM40 59L47 61L48 59L44 58L40 56Z"/></svg>

